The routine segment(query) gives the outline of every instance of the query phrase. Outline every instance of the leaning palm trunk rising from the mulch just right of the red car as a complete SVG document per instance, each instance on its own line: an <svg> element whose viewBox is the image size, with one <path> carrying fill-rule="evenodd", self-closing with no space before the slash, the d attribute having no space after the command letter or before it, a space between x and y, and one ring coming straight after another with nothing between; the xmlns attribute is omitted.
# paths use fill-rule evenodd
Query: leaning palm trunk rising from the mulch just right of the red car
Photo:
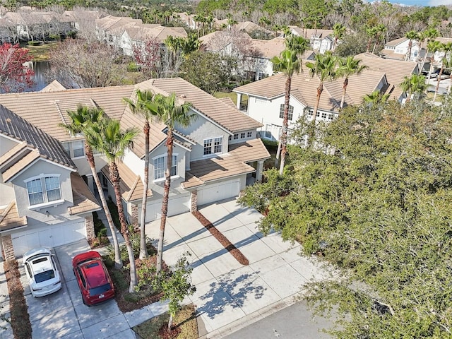
<svg viewBox="0 0 452 339"><path fill-rule="evenodd" d="M127 227L126 217L124 215L124 208L122 207L121 190L119 189L119 172L115 162L110 162L110 180L114 188L114 196L116 196L116 204L118 208L119 221L121 222L121 233L126 242L127 254L129 255L130 266L130 285L129 292L135 292L133 287L136 286L136 267L135 256L133 256L133 248L129 237L129 228Z"/></svg>

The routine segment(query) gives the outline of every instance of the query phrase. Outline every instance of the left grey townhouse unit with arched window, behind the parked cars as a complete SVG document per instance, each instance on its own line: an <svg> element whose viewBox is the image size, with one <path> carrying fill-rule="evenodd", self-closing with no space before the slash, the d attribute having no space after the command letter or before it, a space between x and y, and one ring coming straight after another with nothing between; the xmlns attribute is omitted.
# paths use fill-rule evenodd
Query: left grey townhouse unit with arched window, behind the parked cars
<svg viewBox="0 0 452 339"><path fill-rule="evenodd" d="M0 248L4 260L37 246L53 247L95 237L93 211L100 206L71 157L57 139L3 105L0 173Z"/></svg>

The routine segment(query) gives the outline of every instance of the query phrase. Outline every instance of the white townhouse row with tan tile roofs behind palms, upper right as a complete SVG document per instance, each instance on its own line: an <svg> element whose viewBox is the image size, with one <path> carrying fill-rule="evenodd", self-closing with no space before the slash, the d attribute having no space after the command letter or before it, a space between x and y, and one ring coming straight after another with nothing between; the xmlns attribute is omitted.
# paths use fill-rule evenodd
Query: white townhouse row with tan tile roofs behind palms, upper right
<svg viewBox="0 0 452 339"><path fill-rule="evenodd" d="M417 63L383 59L371 53L358 54L356 59L367 66L359 76L350 76L345 95L345 105L359 105L364 95L379 90L390 94L391 100L404 102L407 94L400 88L404 76L418 73ZM237 108L262 124L261 138L278 141L283 126L285 98L283 74L276 74L261 81L249 83L234 89L237 93ZM308 72L294 74L290 91L289 129L293 129L299 117L307 114L312 119L316 102L319 78ZM316 114L316 121L332 121L339 114L343 95L343 78L323 83L323 93ZM246 105L243 105L246 102Z"/></svg>

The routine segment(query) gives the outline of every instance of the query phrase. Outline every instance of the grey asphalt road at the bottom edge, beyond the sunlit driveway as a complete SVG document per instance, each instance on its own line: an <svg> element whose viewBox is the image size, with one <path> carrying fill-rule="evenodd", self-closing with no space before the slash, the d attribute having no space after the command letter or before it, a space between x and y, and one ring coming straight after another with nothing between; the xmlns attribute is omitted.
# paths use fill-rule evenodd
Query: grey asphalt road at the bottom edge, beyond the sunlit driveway
<svg viewBox="0 0 452 339"><path fill-rule="evenodd" d="M332 324L328 319L314 317L302 301L252 323L225 339L331 339L333 337L321 332L321 329Z"/></svg>

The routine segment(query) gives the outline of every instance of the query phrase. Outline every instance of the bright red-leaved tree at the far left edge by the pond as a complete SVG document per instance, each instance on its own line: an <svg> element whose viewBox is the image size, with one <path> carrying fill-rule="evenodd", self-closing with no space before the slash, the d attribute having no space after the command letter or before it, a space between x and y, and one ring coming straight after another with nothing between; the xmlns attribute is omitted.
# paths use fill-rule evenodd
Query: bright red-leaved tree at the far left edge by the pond
<svg viewBox="0 0 452 339"><path fill-rule="evenodd" d="M0 45L0 90L4 93L22 92L34 84L35 72L25 66L30 61L28 49L18 44Z"/></svg>

